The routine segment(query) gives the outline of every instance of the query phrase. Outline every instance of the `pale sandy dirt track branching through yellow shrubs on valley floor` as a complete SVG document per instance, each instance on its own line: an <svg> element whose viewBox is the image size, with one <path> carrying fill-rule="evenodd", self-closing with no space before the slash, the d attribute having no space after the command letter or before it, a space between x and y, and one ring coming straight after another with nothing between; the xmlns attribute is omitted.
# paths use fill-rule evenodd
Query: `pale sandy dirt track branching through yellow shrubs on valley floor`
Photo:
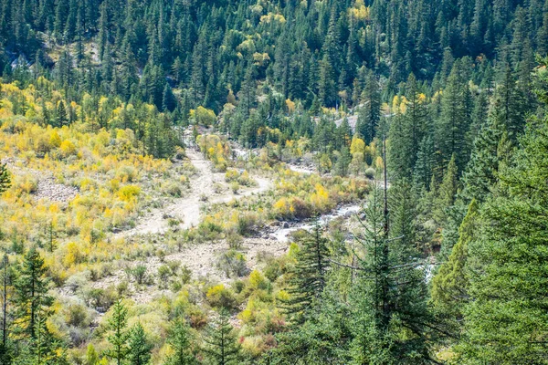
<svg viewBox="0 0 548 365"><path fill-rule="evenodd" d="M137 226L115 236L161 234L169 228L165 217L181 220L180 228L188 229L200 223L202 206L227 203L233 199L239 199L254 193L263 193L273 186L269 180L254 176L254 180L258 183L256 187L242 190L237 194L232 193L229 189L226 189L227 191L224 193L215 193L214 185L216 183L227 185L225 183L225 174L212 172L211 162L205 160L204 156L197 151L188 149L186 150L186 156L197 170L197 175L191 178L190 192L187 196L175 199L174 203L163 208L153 209L150 214L141 218ZM203 197L206 200L203 200Z"/></svg>

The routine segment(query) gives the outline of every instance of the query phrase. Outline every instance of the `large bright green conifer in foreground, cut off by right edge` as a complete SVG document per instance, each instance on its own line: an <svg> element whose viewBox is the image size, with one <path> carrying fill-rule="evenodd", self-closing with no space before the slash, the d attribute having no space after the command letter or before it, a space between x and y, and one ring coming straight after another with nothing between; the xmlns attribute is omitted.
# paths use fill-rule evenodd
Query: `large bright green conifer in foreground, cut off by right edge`
<svg viewBox="0 0 548 365"><path fill-rule="evenodd" d="M543 65L546 64L544 59ZM545 71L539 84L548 84ZM546 108L545 94L539 94ZM498 193L480 211L469 243L469 304L464 308L461 360L474 363L545 363L548 285L545 136L548 120L532 119L511 164L499 172Z"/></svg>

